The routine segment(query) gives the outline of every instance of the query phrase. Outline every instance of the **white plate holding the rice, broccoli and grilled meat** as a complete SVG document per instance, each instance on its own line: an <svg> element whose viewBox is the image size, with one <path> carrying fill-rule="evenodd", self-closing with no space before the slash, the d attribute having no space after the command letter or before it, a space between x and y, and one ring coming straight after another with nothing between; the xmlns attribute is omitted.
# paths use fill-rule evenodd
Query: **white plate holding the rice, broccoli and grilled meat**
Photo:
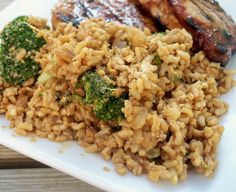
<svg viewBox="0 0 236 192"><path fill-rule="evenodd" d="M16 0L0 13L0 28L8 21L22 14L50 18L50 11L56 0ZM235 0L220 0L221 5L236 20ZM236 55L232 58L228 68L236 68ZM26 156L43 162L51 167L79 178L111 192L222 192L236 191L236 89L222 96L230 105L229 112L223 117L222 124L225 132L220 142L218 159L219 166L213 179L202 175L189 173L187 181L178 185L167 182L151 183L145 176L136 177L128 174L119 176L110 162L100 156L87 154L74 142L54 143L46 139L16 136L8 127L8 121L0 117L0 143ZM104 171L104 167L111 171Z"/></svg>

